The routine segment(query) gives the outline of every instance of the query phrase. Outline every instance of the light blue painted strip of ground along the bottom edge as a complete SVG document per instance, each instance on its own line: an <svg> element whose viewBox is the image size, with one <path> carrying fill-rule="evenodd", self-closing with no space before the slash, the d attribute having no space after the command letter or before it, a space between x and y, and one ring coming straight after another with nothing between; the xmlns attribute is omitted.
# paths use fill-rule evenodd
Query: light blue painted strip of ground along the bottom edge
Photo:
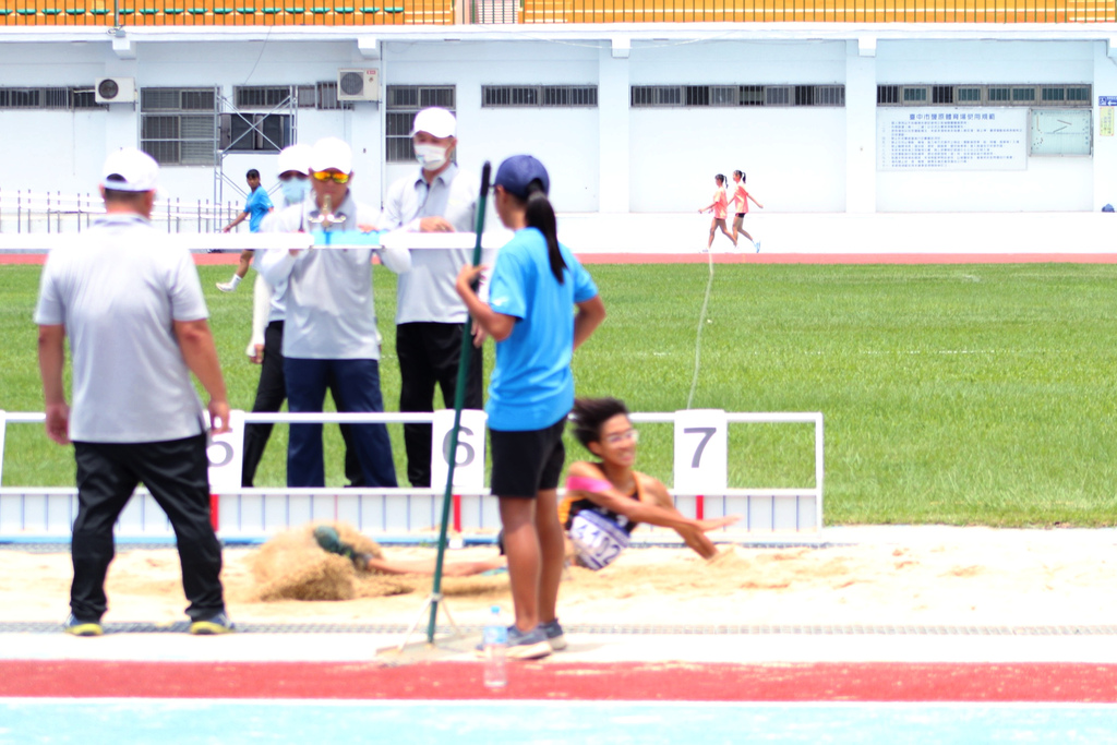
<svg viewBox="0 0 1117 745"><path fill-rule="evenodd" d="M1117 706L0 699L0 743L1114 743Z"/></svg>

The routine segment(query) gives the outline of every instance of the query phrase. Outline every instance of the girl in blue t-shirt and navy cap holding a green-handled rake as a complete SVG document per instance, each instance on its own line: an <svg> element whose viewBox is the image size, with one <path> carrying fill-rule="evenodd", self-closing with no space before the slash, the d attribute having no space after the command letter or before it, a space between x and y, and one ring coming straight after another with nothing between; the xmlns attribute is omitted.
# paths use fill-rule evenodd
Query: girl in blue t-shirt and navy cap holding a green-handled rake
<svg viewBox="0 0 1117 745"><path fill-rule="evenodd" d="M487 304L472 289L484 267L462 267L457 280L469 314L497 343L485 410L516 611L508 656L517 659L566 646L555 604L564 554L562 432L574 404L570 362L605 317L593 279L558 242L550 185L546 169L531 155L500 164L494 201L516 235L497 255Z"/></svg>

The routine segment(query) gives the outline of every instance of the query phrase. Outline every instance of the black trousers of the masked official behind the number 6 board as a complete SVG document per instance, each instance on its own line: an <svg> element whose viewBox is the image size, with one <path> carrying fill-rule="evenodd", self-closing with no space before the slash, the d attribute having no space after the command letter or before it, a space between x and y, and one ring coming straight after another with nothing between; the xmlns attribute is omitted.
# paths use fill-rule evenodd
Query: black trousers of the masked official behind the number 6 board
<svg viewBox="0 0 1117 745"><path fill-rule="evenodd" d="M454 408L462 328L464 324L447 323L405 323L395 327L395 355L400 360L400 411L433 411L436 385L442 390L443 405ZM475 347L469 355L466 409L481 408L483 375L481 350ZM403 426L408 481L413 487L430 487L430 424Z"/></svg>

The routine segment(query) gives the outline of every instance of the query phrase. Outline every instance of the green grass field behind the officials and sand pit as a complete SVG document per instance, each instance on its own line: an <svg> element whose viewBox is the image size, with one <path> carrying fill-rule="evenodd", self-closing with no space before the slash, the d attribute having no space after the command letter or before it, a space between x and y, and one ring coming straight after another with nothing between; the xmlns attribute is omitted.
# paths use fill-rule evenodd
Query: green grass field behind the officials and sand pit
<svg viewBox="0 0 1117 745"><path fill-rule="evenodd" d="M633 411L687 403L706 265L590 267L609 317L577 352L580 395ZM250 281L201 267L231 403L249 409ZM41 411L31 322L39 267L0 267L0 408ZM827 524L1113 525L1117 352L1113 265L719 265L695 408L821 411ZM394 276L376 268L388 409L399 399ZM491 369L491 344L486 370ZM392 428L397 467L402 437ZM4 486L73 484L67 448L8 428ZM731 428L729 485L813 485L809 426ZM327 481L344 483L327 427ZM567 460L582 457L567 441ZM258 486L284 483L277 427ZM639 467L671 481L671 429L641 428Z"/></svg>

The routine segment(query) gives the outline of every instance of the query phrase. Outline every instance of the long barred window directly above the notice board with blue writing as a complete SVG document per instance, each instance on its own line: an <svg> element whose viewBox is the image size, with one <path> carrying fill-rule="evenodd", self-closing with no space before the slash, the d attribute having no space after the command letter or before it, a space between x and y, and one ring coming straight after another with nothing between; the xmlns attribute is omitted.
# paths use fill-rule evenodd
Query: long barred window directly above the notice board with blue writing
<svg viewBox="0 0 1117 745"><path fill-rule="evenodd" d="M1089 106L1089 85L878 85L878 106Z"/></svg>

